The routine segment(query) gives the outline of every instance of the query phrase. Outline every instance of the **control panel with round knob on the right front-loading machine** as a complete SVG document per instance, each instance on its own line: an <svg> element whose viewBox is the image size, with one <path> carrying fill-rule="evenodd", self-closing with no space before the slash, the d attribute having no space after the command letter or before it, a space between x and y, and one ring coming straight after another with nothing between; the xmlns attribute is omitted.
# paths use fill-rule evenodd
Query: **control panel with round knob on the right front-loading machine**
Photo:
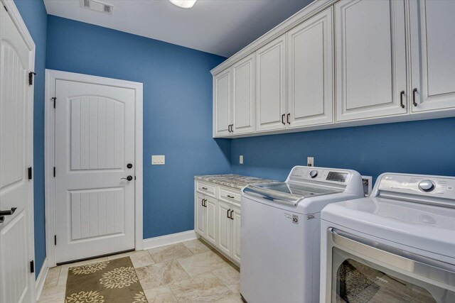
<svg viewBox="0 0 455 303"><path fill-rule="evenodd" d="M455 199L455 177L386 174L379 182L379 190Z"/></svg>

